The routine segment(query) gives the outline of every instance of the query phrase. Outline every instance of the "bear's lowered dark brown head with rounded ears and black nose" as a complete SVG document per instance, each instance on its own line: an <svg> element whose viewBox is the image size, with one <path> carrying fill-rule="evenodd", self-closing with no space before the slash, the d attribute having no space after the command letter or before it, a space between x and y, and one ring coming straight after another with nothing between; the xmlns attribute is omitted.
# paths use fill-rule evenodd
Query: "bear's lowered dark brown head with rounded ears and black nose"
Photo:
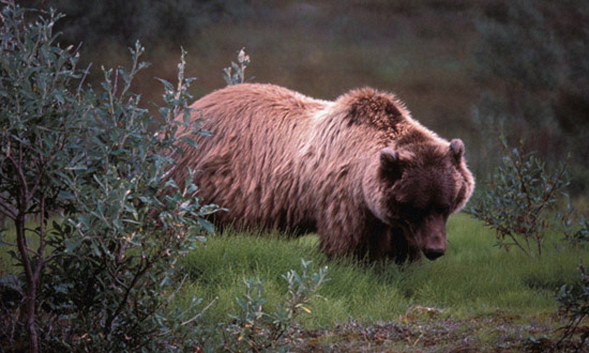
<svg viewBox="0 0 589 353"><path fill-rule="evenodd" d="M446 221L464 207L473 188L459 139L383 148L363 179L370 211L395 234L403 234L409 251L423 252L428 259L444 255Z"/></svg>

